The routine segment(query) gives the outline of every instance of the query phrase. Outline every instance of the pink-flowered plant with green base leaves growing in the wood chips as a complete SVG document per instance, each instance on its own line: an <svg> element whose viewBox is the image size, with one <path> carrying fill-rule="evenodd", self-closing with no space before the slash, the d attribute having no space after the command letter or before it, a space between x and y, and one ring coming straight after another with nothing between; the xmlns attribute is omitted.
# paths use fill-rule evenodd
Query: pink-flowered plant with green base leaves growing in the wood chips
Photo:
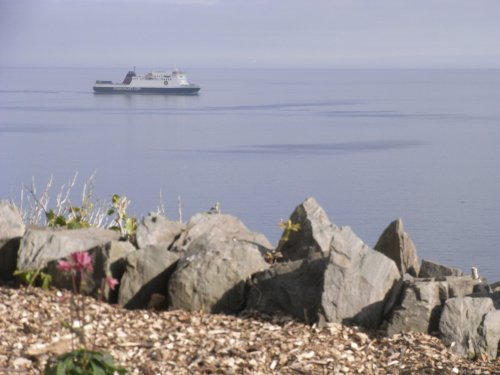
<svg viewBox="0 0 500 375"><path fill-rule="evenodd" d="M92 257L86 251L71 254L70 261L60 260L57 269L69 274L73 285L71 294L71 320L64 322L74 337L78 339L79 347L50 359L44 369L44 375L115 375L127 374L127 370L114 363L113 357L108 353L95 351L95 340L92 349L87 348L85 337L85 297L79 294L82 283L85 283L93 272ZM104 285L108 284L113 289L118 281L107 277L101 285L101 296ZM97 322L98 323L98 322ZM97 326L95 333L97 332ZM94 335L95 338L95 335Z"/></svg>

